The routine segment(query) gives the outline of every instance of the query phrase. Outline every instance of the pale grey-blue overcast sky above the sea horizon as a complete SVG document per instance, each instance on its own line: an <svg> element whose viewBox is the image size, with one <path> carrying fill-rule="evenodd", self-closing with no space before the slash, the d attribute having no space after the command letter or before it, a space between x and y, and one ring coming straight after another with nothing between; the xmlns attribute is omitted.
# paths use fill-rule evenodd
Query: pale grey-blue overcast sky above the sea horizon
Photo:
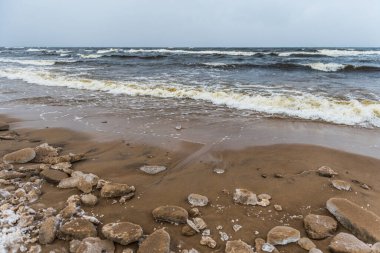
<svg viewBox="0 0 380 253"><path fill-rule="evenodd" d="M0 46L380 46L380 0L0 0Z"/></svg>

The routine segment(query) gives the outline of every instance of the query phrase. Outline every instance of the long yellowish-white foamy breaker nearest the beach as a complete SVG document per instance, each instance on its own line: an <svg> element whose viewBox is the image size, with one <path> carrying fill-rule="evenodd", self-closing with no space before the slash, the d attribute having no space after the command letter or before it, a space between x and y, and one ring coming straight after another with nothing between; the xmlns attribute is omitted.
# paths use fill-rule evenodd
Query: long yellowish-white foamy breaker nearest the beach
<svg viewBox="0 0 380 253"><path fill-rule="evenodd" d="M247 94L237 90L215 87L83 79L48 71L21 68L0 70L0 76L8 79L20 79L38 85L103 91L113 94L202 100L235 109L253 110L268 116L286 116L322 120L336 124L380 127L380 102L378 101L342 100L304 92L297 95L273 93L271 96L267 96L255 93L255 91Z"/></svg>

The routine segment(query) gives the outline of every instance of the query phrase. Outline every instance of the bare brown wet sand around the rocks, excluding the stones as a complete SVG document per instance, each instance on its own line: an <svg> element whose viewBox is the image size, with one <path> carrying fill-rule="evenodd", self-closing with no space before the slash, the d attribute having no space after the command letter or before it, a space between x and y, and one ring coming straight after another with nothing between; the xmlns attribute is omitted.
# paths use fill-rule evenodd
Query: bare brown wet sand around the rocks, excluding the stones
<svg viewBox="0 0 380 253"><path fill-rule="evenodd" d="M301 231L301 237L305 236L302 217L309 213L329 215L325 204L331 197L347 198L380 214L380 160L367 156L303 144L244 145L242 148L231 145L228 148L228 145L210 146L185 140L177 140L173 146L167 143L149 145L146 144L148 141L139 142L134 138L99 141L102 138L96 135L101 133L95 135L94 132L55 127L20 128L20 120L5 116L0 120L10 122L11 130L15 127L19 134L17 140L0 141L1 156L47 142L62 147L64 153L86 154L85 160L73 164L74 170L135 186L135 197L125 204L99 198L95 207L82 208L103 224L115 221L139 224L144 234L165 227L174 252L191 248L199 252L224 252L225 242L220 240L219 231L226 232L230 240L242 239L251 245L256 237L266 238L267 232L277 225L292 226ZM157 175L147 175L139 170L142 165L163 165L168 169ZM331 179L318 176L315 170L324 165L339 173L336 179L351 182L352 191L339 191L331 186ZM225 173L216 174L215 168L222 168ZM363 189L353 180L363 182L371 189ZM232 200L236 188L246 188L256 194L267 193L272 196L271 204L267 207L237 205ZM32 207L60 210L69 196L80 193L77 189L58 189L46 182L42 192ZM215 249L200 245L199 234L192 237L181 235L181 225L157 223L153 219L152 210L161 205L178 205L189 210L191 206L186 199L190 193L205 195L210 200L208 206L199 207L199 210L211 229L211 237L217 242ZM95 191L95 194L99 195L99 192ZM283 211L276 211L275 204L281 205ZM234 224L242 228L235 232ZM218 226L223 228L217 230ZM100 228L101 225L98 231ZM339 226L338 231L346 230ZM314 243L327 252L330 240ZM68 248L68 242L56 239L53 244L43 246L43 252L58 246ZM116 248L121 252L125 246L117 245ZM132 244L132 248L136 249L137 244ZM305 252L296 244L277 248L280 252Z"/></svg>

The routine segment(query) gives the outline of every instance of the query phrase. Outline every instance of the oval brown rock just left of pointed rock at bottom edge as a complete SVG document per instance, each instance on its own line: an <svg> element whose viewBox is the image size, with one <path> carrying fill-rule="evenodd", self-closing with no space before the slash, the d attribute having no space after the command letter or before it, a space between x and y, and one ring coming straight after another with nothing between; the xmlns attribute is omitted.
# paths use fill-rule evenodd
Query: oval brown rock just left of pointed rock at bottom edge
<svg viewBox="0 0 380 253"><path fill-rule="evenodd" d="M143 235L143 230L141 226L131 222L115 222L104 225L102 233L111 241L128 245L138 241Z"/></svg>

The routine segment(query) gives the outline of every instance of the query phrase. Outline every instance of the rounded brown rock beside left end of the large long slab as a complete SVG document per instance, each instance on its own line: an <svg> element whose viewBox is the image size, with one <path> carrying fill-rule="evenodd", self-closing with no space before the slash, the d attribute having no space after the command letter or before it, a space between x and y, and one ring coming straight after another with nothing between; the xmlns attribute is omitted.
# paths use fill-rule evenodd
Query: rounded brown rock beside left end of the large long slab
<svg viewBox="0 0 380 253"><path fill-rule="evenodd" d="M307 235L311 239L324 239L333 235L338 227L336 220L329 216L309 214L303 220Z"/></svg>

